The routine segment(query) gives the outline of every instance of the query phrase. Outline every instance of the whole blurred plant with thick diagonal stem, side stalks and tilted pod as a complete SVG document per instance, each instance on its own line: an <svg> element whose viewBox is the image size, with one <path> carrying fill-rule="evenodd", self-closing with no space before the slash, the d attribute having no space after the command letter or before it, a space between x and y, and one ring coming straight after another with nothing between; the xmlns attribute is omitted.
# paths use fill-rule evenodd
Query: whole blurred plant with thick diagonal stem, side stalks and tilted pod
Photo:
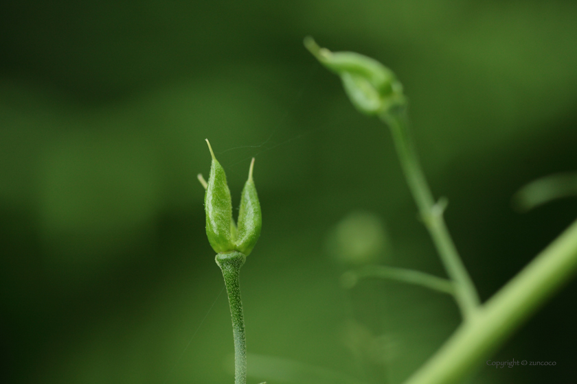
<svg viewBox="0 0 577 384"><path fill-rule="evenodd" d="M449 275L449 280L444 280L407 269L385 267L349 274L348 283L355 283L357 276L394 278L453 294L464 322L405 384L460 382L576 274L577 221L505 287L481 304L444 223L442 215L446 200L435 202L422 172L409 132L407 101L396 77L383 64L358 53L332 53L320 48L312 38L306 38L304 44L321 64L341 77L350 101L359 111L378 116L389 125L409 189ZM550 187L550 184L538 186Z"/></svg>

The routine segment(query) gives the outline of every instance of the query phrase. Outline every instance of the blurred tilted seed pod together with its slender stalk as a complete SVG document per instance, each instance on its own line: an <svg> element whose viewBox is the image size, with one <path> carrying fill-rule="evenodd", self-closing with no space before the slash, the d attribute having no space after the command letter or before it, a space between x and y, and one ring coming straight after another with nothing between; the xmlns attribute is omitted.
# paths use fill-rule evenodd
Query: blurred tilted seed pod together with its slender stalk
<svg viewBox="0 0 577 384"><path fill-rule="evenodd" d="M327 69L341 77L352 104L365 115L378 116L389 125L400 165L418 206L423 223L440 255L447 274L455 283L455 300L464 318L471 318L479 307L479 298L449 230L443 219L446 200L435 202L422 172L409 132L403 86L390 69L380 62L354 52L331 52L313 38L305 38L305 47Z"/></svg>

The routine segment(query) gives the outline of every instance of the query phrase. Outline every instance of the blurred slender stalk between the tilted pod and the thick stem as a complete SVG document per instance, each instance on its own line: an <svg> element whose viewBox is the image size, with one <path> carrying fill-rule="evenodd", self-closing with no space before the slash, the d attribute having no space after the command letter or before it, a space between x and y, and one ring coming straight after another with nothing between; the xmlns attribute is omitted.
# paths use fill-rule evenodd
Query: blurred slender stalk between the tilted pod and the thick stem
<svg viewBox="0 0 577 384"><path fill-rule="evenodd" d="M447 274L455 282L455 300L465 319L473 317L479 307L479 296L468 275L443 219L442 204L435 204L429 184L422 173L404 108L387 110L381 120L391 129L400 165L415 199L422 221L433 239Z"/></svg>

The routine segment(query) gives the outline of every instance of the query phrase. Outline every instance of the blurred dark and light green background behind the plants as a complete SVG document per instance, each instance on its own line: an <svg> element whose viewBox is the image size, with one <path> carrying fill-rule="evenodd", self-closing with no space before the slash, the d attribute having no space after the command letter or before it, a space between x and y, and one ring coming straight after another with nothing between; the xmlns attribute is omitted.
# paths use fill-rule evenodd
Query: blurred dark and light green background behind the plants
<svg viewBox="0 0 577 384"><path fill-rule="evenodd" d="M400 383L459 313L418 287L339 285L351 266L339 242L355 233L382 234L358 262L444 272L386 128L302 38L397 73L486 300L577 213L572 199L511 208L523 184L577 170L576 20L577 3L544 0L3 2L3 383L232 383L196 180L205 138L235 204L256 157L263 229L241 276L249 382ZM493 358L556 366L479 365L471 383L569 382L576 300L572 283Z"/></svg>

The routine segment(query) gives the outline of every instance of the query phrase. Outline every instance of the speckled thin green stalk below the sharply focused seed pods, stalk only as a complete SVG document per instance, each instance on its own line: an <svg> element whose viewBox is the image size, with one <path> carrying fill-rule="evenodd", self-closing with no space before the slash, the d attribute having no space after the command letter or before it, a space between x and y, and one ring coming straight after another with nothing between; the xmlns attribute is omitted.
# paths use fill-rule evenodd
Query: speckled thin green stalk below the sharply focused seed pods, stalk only
<svg viewBox="0 0 577 384"><path fill-rule="evenodd" d="M247 383L247 341L245 339L245 320L242 316L242 300L240 299L240 267L247 256L240 252L219 253L216 264L223 271L230 314L232 317L232 333L234 335L234 383Z"/></svg>

